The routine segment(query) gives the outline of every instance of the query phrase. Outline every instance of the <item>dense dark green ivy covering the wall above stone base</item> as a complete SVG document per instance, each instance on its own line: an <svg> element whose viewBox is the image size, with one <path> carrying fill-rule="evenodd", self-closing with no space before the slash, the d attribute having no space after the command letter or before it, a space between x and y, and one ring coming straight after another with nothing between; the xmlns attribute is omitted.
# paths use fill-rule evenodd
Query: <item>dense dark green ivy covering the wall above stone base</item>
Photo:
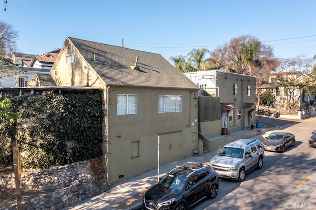
<svg viewBox="0 0 316 210"><path fill-rule="evenodd" d="M12 126L0 125L1 166L13 164L12 135L23 168L45 169L102 155L102 91L3 97L11 99L19 117Z"/></svg>

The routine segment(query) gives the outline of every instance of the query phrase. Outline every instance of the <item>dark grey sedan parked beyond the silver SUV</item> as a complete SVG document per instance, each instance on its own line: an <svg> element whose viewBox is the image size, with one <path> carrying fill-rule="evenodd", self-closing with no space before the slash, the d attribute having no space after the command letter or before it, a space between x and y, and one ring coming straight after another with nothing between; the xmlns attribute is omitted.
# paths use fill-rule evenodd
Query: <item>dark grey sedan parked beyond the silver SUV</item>
<svg viewBox="0 0 316 210"><path fill-rule="evenodd" d="M266 151L284 152L290 146L295 146L295 135L289 132L275 131L262 141Z"/></svg>

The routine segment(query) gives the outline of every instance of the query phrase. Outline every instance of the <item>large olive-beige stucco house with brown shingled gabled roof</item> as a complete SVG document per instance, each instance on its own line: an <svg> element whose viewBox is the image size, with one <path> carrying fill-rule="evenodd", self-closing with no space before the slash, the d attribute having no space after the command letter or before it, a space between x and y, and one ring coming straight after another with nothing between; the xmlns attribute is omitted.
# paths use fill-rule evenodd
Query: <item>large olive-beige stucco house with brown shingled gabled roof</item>
<svg viewBox="0 0 316 210"><path fill-rule="evenodd" d="M193 156L198 88L160 54L67 37L50 74L103 89L109 183Z"/></svg>

